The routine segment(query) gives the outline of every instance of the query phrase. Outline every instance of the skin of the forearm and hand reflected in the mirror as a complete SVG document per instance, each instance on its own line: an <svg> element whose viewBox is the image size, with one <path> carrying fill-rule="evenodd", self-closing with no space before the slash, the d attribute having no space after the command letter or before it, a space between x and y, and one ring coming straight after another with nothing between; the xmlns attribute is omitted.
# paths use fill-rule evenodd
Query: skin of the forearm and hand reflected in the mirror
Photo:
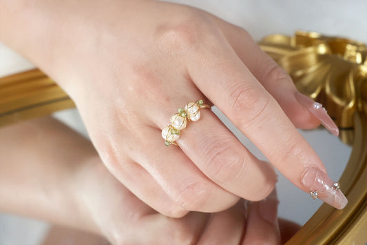
<svg viewBox="0 0 367 245"><path fill-rule="evenodd" d="M275 193L220 213L161 215L109 173L90 141L52 118L1 128L0 139L0 210L69 227L45 244L279 244L299 228L277 219Z"/></svg>

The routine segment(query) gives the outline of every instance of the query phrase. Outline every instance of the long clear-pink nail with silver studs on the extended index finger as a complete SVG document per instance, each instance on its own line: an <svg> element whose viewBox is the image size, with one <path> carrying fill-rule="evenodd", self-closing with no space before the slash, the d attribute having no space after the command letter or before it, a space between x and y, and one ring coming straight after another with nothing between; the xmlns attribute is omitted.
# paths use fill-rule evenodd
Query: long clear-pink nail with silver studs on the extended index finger
<svg viewBox="0 0 367 245"><path fill-rule="evenodd" d="M316 167L308 167L301 178L301 183L308 188L309 193L314 194L314 199L319 198L337 209L343 209L348 204L339 186L334 186L328 175Z"/></svg>

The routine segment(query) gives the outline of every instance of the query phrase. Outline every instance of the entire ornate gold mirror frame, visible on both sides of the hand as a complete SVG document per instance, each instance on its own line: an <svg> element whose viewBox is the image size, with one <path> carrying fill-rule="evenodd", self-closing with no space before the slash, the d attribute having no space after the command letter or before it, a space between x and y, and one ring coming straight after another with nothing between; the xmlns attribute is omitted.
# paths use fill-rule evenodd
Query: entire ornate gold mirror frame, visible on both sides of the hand
<svg viewBox="0 0 367 245"><path fill-rule="evenodd" d="M315 32L271 35L260 46L289 72L301 92L324 105L342 141L353 145L339 179L348 205L344 210L322 205L287 244L366 244L367 46ZM0 126L74 106L40 70L0 79Z"/></svg>

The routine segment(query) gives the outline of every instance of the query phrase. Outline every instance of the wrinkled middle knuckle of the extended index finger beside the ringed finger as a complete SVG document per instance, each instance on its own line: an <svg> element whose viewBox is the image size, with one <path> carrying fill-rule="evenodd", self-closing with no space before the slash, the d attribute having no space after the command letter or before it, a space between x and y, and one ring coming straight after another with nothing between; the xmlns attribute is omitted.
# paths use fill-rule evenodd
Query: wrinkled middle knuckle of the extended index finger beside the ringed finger
<svg viewBox="0 0 367 245"><path fill-rule="evenodd" d="M261 117L269 107L270 96L257 86L241 84L230 95L232 113L237 124L249 124Z"/></svg>

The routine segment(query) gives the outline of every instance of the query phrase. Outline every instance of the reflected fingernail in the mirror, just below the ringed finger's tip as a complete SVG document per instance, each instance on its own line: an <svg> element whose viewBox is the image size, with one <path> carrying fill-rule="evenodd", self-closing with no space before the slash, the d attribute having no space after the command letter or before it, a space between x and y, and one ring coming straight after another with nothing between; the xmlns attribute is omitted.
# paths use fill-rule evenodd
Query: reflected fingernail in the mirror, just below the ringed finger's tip
<svg viewBox="0 0 367 245"><path fill-rule="evenodd" d="M263 219L271 224L277 222L277 192L274 190L265 199L259 202L259 213Z"/></svg>

